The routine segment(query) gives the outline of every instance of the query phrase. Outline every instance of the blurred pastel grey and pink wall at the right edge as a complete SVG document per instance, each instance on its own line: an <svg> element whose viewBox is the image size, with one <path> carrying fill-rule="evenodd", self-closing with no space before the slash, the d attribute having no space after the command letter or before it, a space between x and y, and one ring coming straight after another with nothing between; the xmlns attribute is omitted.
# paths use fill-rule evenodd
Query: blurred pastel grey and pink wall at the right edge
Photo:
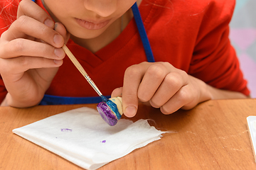
<svg viewBox="0 0 256 170"><path fill-rule="evenodd" d="M230 40L237 51L240 67L251 97L256 98L256 1L236 0L230 23Z"/></svg>

